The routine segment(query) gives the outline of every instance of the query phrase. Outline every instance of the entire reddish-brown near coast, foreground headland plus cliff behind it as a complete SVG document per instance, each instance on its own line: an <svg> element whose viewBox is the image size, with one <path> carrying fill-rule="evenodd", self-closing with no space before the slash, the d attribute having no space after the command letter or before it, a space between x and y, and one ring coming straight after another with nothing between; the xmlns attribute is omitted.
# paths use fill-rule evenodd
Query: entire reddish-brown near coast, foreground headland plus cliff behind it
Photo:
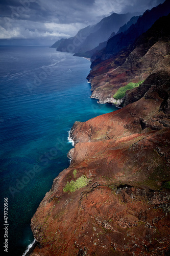
<svg viewBox="0 0 170 256"><path fill-rule="evenodd" d="M75 122L67 169L31 221L31 255L169 255L169 16L88 76L92 97L115 112Z"/></svg>

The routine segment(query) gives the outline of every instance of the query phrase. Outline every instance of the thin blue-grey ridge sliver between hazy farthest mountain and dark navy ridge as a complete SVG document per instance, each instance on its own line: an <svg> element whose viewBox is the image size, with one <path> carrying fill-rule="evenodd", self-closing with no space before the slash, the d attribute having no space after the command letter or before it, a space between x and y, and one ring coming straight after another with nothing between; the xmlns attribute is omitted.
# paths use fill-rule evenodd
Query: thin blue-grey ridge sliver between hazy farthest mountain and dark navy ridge
<svg viewBox="0 0 170 256"><path fill-rule="evenodd" d="M126 31L127 29L130 28L130 26L131 26L132 24L136 24L138 18L139 18L139 16L133 16L133 17L129 20L128 23L126 23L124 26L122 26L122 27L119 28L119 30L118 30L118 32L117 32L116 34L119 34L119 33L121 33L121 32ZM111 34L111 36L108 38L108 40L109 40L111 37L113 37L114 35L115 35L115 32L113 32L113 33ZM88 58L90 58L96 51L100 51L100 50L102 50L103 48L105 48L105 47L107 46L108 40L107 40L107 41L104 41L104 42L100 42L100 44L99 44L97 47L95 47L94 49L92 49L92 50L90 50L90 51L87 51L87 52L79 52L79 53L75 53L74 55L75 55L75 56L82 56L82 57L88 57Z"/></svg>

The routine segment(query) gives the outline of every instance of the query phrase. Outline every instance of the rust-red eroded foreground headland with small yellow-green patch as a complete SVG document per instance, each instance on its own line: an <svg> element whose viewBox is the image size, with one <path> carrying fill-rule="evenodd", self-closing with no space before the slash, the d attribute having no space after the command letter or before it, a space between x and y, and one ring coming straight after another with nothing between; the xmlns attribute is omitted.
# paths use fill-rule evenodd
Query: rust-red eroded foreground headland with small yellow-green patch
<svg viewBox="0 0 170 256"><path fill-rule="evenodd" d="M71 164L32 219L40 243L32 255L168 254L170 192L163 184L169 181L170 119L169 98L161 97L169 95L169 77L166 71L159 76L158 86L125 108L75 123ZM81 177L88 182L78 184ZM77 185L72 192L70 184Z"/></svg>

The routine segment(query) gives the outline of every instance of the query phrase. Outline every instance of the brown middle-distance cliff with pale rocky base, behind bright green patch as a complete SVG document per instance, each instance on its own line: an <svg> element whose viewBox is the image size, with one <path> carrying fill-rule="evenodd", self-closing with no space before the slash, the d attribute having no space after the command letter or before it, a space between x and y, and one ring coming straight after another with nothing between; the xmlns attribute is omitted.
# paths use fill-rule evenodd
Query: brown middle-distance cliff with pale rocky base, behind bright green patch
<svg viewBox="0 0 170 256"><path fill-rule="evenodd" d="M169 69L170 14L157 20L134 44L116 56L93 66L87 79L92 98L118 104L113 95L129 82L145 80L150 74ZM136 92L134 90L134 92Z"/></svg>

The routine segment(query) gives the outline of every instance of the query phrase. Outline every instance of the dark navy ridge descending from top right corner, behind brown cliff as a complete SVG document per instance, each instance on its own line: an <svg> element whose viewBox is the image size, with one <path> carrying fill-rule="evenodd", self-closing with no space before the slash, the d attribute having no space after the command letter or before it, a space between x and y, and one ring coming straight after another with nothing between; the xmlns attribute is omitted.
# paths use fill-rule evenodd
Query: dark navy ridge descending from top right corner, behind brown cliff
<svg viewBox="0 0 170 256"><path fill-rule="evenodd" d="M110 38L107 42L106 47L103 50L92 55L91 61L95 60L93 66L96 63L100 63L102 60L110 58L123 48L126 48L127 46L132 44L139 35L151 28L151 26L156 22L158 18L164 15L168 15L169 12L169 0L166 0L163 4L160 4L151 10L145 11L143 15L138 18L135 25L132 25L128 30L116 34L115 36Z"/></svg>

